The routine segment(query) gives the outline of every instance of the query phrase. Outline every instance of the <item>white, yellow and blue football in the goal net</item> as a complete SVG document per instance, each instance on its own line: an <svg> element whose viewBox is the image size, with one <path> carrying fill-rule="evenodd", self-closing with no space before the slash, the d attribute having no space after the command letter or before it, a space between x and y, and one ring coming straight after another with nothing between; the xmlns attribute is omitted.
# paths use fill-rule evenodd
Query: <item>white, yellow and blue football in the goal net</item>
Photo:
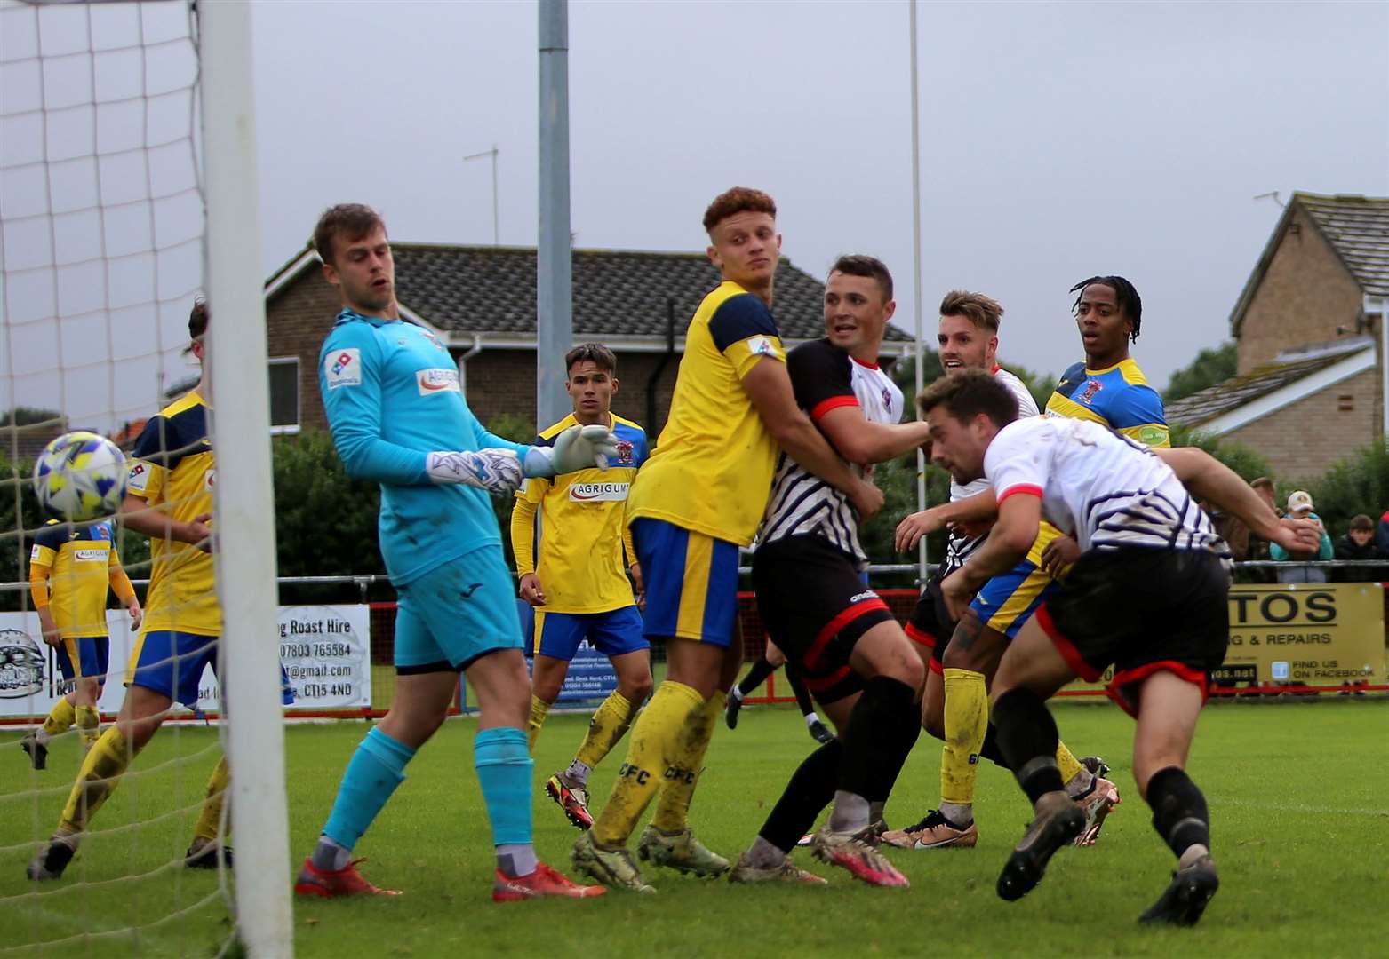
<svg viewBox="0 0 1389 959"><path fill-rule="evenodd" d="M33 464L33 494L54 519L81 523L121 508L129 468L111 440L86 430L64 433Z"/></svg>

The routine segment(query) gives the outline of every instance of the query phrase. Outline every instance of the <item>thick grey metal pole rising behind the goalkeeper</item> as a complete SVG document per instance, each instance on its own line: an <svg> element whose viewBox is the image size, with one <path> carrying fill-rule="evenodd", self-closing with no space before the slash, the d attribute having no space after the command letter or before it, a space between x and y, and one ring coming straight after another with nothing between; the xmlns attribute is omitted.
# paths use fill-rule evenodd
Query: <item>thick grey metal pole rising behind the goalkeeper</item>
<svg viewBox="0 0 1389 959"><path fill-rule="evenodd" d="M540 241L536 246L536 429L569 412L564 353L574 344L569 254L569 11L540 0Z"/></svg>

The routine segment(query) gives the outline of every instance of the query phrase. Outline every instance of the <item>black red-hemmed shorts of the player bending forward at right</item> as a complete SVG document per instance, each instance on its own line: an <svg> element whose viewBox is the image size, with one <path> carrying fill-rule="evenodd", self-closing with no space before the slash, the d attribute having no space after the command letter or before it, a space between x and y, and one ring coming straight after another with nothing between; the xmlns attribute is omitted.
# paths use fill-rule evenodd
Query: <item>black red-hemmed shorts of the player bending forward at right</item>
<svg viewBox="0 0 1389 959"><path fill-rule="evenodd" d="M1229 643L1229 573L1208 552L1101 550L1086 552L1061 588L1038 608L1038 625L1075 673L1106 690L1131 716L1135 684L1171 672L1201 688Z"/></svg>

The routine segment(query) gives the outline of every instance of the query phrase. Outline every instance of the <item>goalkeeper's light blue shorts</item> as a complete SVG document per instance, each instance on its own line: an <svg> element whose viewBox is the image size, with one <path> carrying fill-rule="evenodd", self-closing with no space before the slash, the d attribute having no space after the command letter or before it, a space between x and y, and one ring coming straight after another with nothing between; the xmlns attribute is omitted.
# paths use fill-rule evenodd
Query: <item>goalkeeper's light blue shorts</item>
<svg viewBox="0 0 1389 959"><path fill-rule="evenodd" d="M482 547L396 586L396 672L467 669L496 650L524 650L500 545Z"/></svg>

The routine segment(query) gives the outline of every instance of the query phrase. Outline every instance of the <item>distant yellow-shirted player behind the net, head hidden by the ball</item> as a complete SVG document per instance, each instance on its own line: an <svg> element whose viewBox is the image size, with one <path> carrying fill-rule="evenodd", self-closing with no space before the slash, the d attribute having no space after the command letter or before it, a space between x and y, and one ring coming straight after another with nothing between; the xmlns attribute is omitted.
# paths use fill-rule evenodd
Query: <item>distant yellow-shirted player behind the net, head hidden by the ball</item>
<svg viewBox="0 0 1389 959"><path fill-rule="evenodd" d="M28 733L19 745L35 769L47 765L49 740L74 724L83 751L100 736L96 701L106 684L111 641L106 626L106 591L115 593L131 613L131 629L140 627L140 601L121 568L111 541L111 523L69 526L50 519L33 537L29 554L29 591L39 613L43 641L58 654L64 683L72 688L53 704L43 726Z"/></svg>

